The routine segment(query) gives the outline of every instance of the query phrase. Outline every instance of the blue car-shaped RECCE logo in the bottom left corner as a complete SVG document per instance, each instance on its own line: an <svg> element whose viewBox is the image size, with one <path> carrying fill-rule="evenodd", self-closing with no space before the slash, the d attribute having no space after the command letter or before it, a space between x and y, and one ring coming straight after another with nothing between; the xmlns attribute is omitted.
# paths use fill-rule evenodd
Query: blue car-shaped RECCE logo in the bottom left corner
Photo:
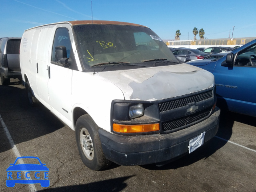
<svg viewBox="0 0 256 192"><path fill-rule="evenodd" d="M19 159L33 159L37 164L16 164ZM14 187L16 183L21 184L36 184L40 183L42 187L50 186L48 179L49 169L46 164L43 164L38 157L25 156L18 157L14 163L6 169L7 171L7 187ZM25 173L25 178L21 178L21 172Z"/></svg>

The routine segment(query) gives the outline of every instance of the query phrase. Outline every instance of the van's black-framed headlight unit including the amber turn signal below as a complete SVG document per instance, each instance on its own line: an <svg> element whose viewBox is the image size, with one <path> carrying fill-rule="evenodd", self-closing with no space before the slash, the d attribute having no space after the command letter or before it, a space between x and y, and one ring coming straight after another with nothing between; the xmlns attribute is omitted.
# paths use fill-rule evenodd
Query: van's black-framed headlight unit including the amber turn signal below
<svg viewBox="0 0 256 192"><path fill-rule="evenodd" d="M139 135L160 131L159 108L152 101L113 100L110 120L111 132L117 134Z"/></svg>

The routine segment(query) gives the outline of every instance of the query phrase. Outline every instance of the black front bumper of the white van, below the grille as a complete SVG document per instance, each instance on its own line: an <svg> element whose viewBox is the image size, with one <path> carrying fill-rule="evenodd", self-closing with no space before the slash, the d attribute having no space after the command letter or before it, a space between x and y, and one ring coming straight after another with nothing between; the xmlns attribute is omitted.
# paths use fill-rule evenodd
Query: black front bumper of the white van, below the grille
<svg viewBox="0 0 256 192"><path fill-rule="evenodd" d="M213 138L219 127L220 109L206 120L169 134L124 136L99 130L107 159L119 165L144 165L171 160L188 152L189 141L203 132L204 143Z"/></svg>

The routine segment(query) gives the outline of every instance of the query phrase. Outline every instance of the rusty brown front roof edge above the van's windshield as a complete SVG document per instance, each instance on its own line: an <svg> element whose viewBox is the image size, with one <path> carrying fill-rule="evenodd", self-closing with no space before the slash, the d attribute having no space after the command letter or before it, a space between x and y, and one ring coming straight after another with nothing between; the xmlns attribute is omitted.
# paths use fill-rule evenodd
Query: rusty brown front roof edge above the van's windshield
<svg viewBox="0 0 256 192"><path fill-rule="evenodd" d="M100 21L100 20L84 20L84 21L69 21L72 25L82 25L82 24L105 24L105 25L131 25L131 26L140 26L146 27L139 24L127 23L127 22L119 22L119 21Z"/></svg>

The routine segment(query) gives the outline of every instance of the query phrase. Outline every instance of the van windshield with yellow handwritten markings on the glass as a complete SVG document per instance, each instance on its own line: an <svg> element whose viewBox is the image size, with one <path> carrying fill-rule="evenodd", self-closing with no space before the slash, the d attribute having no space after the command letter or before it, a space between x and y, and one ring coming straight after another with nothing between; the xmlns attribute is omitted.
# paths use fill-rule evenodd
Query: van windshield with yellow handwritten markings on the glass
<svg viewBox="0 0 256 192"><path fill-rule="evenodd" d="M152 66L156 60L178 64L166 44L149 28L87 24L74 25L73 29L84 69L101 64L106 67L108 63Z"/></svg>

